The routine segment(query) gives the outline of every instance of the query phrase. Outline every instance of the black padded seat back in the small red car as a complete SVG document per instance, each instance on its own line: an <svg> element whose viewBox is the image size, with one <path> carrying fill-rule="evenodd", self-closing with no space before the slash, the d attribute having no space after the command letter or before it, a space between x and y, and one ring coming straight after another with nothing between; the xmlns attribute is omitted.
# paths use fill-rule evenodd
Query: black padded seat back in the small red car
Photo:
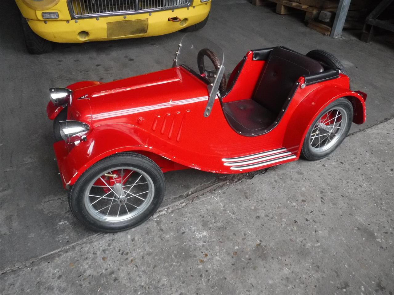
<svg viewBox="0 0 394 295"><path fill-rule="evenodd" d="M257 80L252 100L273 114L279 114L297 79L323 70L323 66L310 57L275 47Z"/></svg>

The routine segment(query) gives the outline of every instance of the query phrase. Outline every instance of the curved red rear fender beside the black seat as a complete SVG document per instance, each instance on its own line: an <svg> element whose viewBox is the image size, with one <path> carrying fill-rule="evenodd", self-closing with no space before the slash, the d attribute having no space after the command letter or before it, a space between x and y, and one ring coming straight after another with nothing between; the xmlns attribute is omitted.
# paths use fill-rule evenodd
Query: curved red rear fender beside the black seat
<svg viewBox="0 0 394 295"><path fill-rule="evenodd" d="M338 98L345 97L353 105L353 122L362 124L365 122L366 109L363 96L358 92L351 91L338 85L322 85L312 90L297 105L286 128L283 146L289 150L297 151L297 157L301 153L304 138L312 125L313 121L330 103ZM308 110L307 112L305 110ZM308 114L314 114L308 116ZM301 140L300 140L301 139Z"/></svg>

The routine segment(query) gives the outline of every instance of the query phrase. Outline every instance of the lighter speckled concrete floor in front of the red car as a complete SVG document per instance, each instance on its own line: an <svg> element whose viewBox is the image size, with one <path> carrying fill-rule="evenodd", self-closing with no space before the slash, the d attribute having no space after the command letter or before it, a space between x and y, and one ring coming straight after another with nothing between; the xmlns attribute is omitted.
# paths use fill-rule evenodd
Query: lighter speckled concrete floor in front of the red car
<svg viewBox="0 0 394 295"><path fill-rule="evenodd" d="M392 295L393 129L42 257L0 275L0 293Z"/></svg>

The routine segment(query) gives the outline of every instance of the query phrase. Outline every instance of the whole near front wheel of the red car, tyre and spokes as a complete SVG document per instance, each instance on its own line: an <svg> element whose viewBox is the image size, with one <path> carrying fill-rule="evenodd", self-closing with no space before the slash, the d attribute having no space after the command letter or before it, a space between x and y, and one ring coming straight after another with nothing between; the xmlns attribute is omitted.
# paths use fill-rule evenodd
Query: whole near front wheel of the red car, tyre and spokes
<svg viewBox="0 0 394 295"><path fill-rule="evenodd" d="M119 153L81 175L69 191L69 205L87 228L118 232L149 219L164 194L164 175L156 163L138 153Z"/></svg>

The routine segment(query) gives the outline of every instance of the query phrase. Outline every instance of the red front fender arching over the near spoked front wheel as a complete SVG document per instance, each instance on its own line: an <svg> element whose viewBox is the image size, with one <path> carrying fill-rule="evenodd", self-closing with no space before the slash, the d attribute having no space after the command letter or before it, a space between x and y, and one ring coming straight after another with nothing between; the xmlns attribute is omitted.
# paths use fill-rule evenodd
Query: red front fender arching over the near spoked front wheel
<svg viewBox="0 0 394 295"><path fill-rule="evenodd" d="M137 139L143 137L146 139ZM60 151L60 149L67 149L66 144L64 142L62 144L63 146L59 146L59 143L55 143L54 148L63 185L66 188L73 185L80 175L93 164L110 155L125 151L134 151L145 155L156 162L163 172L188 168L165 158L162 151L154 148L154 139L144 136L141 129L127 124L95 127L87 135L87 140L79 142L69 153ZM63 158L59 159L62 154Z"/></svg>

